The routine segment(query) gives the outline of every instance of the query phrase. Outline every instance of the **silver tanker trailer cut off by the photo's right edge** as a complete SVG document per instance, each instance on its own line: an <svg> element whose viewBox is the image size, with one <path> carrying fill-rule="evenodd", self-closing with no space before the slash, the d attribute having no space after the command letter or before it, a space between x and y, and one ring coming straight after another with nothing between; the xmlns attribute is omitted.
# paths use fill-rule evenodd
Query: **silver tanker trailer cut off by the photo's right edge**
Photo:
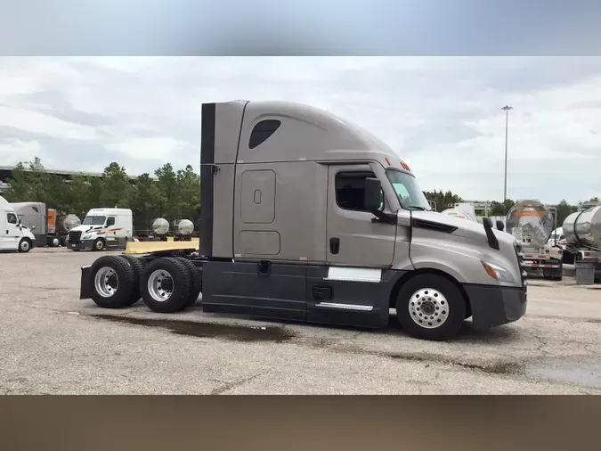
<svg viewBox="0 0 601 451"><path fill-rule="evenodd" d="M601 282L601 204L564 219L565 251L576 261L595 264L595 282Z"/></svg>

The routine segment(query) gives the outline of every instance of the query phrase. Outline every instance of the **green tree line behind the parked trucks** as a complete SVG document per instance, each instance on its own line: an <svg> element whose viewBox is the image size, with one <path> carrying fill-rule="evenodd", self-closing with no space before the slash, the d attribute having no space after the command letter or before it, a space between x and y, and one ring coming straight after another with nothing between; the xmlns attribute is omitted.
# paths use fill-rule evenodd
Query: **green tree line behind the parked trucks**
<svg viewBox="0 0 601 451"><path fill-rule="evenodd" d="M177 219L190 219L198 225L200 217L200 176L191 165L175 171L171 163L165 163L154 171L137 177L127 176L126 168L112 162L104 168L102 176L74 175L70 179L54 175L45 170L42 161L20 162L8 180L11 187L4 193L10 202L45 202L59 215L69 213L85 217L89 209L118 207L132 209L134 229L148 231L153 219L165 217L173 224ZM447 209L452 203L463 199L451 191L425 191L426 199L435 203L437 211ZM598 198L589 201L599 201ZM491 201L489 214L504 216L515 205L508 199L504 202ZM561 201L549 205L557 210L557 225L578 209Z"/></svg>

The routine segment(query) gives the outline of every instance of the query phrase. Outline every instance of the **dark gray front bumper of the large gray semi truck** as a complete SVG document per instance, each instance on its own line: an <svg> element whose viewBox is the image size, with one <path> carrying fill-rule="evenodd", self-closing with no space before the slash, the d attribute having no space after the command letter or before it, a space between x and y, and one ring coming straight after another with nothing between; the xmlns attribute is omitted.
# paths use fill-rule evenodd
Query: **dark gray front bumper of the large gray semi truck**
<svg viewBox="0 0 601 451"><path fill-rule="evenodd" d="M525 281L523 287L465 284L463 288L476 329L513 323L526 313L528 284Z"/></svg>

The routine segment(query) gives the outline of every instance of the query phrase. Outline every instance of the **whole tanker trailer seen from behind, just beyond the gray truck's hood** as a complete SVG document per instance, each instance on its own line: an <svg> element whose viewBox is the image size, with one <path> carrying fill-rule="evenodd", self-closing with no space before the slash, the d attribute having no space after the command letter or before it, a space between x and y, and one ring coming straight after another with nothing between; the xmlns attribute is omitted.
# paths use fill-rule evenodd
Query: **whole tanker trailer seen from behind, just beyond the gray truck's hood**
<svg viewBox="0 0 601 451"><path fill-rule="evenodd" d="M542 272L547 280L562 280L564 251L548 242L556 222L556 209L540 201L519 201L509 209L507 232L520 242L528 275Z"/></svg>

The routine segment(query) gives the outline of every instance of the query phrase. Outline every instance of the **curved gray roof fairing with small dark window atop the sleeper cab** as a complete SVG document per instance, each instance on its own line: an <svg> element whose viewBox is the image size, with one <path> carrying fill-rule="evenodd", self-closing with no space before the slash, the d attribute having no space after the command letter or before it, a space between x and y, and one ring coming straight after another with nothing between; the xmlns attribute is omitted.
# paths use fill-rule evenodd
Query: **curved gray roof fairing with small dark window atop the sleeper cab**
<svg viewBox="0 0 601 451"><path fill-rule="evenodd" d="M275 130L257 144L256 134L264 133L261 128L267 122ZM279 127L275 122L280 122ZM240 128L236 143L231 138L236 135L231 133L232 127ZM386 156L398 163L391 161L394 168L402 168L398 155L377 136L309 105L279 101L215 104L215 164L297 160L384 162Z"/></svg>

